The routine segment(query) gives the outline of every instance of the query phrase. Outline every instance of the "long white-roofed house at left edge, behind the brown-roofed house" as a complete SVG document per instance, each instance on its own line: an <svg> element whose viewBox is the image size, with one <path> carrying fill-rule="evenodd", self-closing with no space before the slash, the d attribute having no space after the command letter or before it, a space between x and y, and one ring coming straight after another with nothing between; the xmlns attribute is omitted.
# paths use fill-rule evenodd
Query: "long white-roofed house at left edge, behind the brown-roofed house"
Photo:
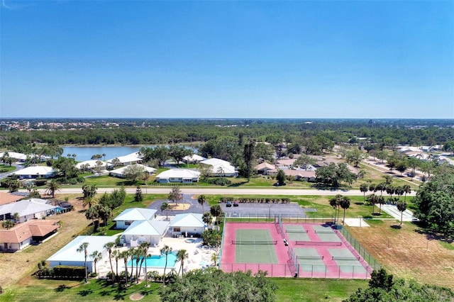
<svg viewBox="0 0 454 302"><path fill-rule="evenodd" d="M0 220L13 219L18 213L19 222L23 223L30 219L41 219L55 211L56 206L50 206L45 199L31 198L13 203L6 203L0 206Z"/></svg>

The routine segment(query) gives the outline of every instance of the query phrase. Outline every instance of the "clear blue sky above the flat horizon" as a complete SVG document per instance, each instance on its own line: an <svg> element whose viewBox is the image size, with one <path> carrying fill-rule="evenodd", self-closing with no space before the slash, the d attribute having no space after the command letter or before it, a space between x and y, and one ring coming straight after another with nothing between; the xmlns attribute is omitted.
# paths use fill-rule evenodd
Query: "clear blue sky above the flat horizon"
<svg viewBox="0 0 454 302"><path fill-rule="evenodd" d="M11 1L0 117L454 118L454 1Z"/></svg>

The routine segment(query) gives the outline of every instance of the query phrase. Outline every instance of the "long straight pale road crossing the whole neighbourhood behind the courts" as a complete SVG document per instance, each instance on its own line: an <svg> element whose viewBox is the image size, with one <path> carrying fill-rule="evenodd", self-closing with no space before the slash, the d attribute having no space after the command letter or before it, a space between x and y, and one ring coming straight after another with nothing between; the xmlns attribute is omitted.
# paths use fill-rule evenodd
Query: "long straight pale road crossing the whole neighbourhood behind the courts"
<svg viewBox="0 0 454 302"><path fill-rule="evenodd" d="M110 193L115 189L119 188L99 188L98 193L103 194L104 192ZM187 189L180 188L183 194L205 194L205 195L283 195L283 196L333 196L336 194L341 194L343 196L362 196L360 190L318 190L318 189L225 189L225 188L199 188L199 189ZM26 190L19 190L26 191ZM45 189L39 189L40 193L44 193ZM143 194L168 194L170 188L142 188ZM126 193L134 194L135 188L126 188ZM81 188L67 188L61 189L57 194L82 194ZM411 194L407 196L414 196L415 192L412 191Z"/></svg>

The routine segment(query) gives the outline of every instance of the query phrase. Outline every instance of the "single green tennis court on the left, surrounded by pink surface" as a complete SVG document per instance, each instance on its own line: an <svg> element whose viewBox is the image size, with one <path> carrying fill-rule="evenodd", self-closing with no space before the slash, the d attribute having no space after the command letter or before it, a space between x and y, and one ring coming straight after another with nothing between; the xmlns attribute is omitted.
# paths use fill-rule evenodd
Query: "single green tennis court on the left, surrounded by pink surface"
<svg viewBox="0 0 454 302"><path fill-rule="evenodd" d="M236 230L235 240L242 242L235 245L235 263L279 263L270 230Z"/></svg>

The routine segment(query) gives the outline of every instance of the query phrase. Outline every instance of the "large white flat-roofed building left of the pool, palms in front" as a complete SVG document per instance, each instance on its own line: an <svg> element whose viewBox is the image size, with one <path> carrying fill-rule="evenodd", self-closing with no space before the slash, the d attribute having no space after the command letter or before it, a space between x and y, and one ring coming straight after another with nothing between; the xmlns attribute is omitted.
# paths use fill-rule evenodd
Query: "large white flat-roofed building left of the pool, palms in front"
<svg viewBox="0 0 454 302"><path fill-rule="evenodd" d="M57 265L69 265L74 267L84 266L84 252L77 252L77 249L82 243L87 242L87 253L92 254L94 251L101 252L103 259L98 263L104 262L105 257L109 257L109 252L104 249L104 245L108 242L115 242L115 236L78 236L70 243L62 247L54 255L50 256L47 261L50 262L50 267ZM88 272L94 272L94 262L92 258L87 258Z"/></svg>

